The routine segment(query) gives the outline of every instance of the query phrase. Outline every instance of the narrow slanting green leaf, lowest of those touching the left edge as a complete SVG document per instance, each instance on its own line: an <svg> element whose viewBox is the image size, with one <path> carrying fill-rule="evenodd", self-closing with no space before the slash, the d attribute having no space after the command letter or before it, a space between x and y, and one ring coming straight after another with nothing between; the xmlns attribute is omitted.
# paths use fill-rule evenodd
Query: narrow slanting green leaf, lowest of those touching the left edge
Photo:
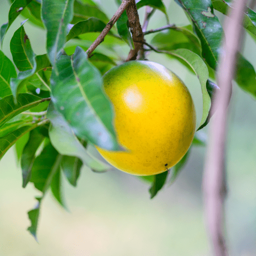
<svg viewBox="0 0 256 256"><path fill-rule="evenodd" d="M17 130L7 134L4 137L0 138L0 159L8 151L8 149L23 135L31 131L34 128L37 128L40 123L34 124L33 126L23 126Z"/></svg>

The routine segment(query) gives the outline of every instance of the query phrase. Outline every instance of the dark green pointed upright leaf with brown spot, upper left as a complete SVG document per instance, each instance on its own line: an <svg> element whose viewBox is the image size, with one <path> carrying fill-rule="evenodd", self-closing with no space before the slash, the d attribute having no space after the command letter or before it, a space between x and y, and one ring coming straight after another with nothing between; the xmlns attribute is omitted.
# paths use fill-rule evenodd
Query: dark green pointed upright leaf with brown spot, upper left
<svg viewBox="0 0 256 256"><path fill-rule="evenodd" d="M35 65L35 54L23 25L24 23L14 32L10 40L13 62L19 71L33 69Z"/></svg>

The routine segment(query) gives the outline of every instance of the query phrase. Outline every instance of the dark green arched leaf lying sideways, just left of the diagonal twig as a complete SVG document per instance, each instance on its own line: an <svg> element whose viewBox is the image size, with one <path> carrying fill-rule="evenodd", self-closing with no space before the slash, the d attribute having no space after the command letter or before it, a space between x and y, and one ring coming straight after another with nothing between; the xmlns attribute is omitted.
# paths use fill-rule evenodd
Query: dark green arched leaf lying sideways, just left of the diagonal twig
<svg viewBox="0 0 256 256"><path fill-rule="evenodd" d="M106 24L98 18L88 18L87 20L77 22L69 31L67 41L88 32L101 32Z"/></svg>

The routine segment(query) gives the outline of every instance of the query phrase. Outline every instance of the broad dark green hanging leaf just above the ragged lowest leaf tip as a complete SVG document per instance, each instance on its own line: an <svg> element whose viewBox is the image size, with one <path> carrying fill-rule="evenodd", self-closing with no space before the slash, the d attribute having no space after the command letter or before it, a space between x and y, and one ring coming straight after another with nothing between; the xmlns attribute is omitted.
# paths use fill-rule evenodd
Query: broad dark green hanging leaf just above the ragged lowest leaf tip
<svg viewBox="0 0 256 256"><path fill-rule="evenodd" d="M30 182L35 188L45 193L51 185L54 174L59 170L61 155L48 143L34 161Z"/></svg>

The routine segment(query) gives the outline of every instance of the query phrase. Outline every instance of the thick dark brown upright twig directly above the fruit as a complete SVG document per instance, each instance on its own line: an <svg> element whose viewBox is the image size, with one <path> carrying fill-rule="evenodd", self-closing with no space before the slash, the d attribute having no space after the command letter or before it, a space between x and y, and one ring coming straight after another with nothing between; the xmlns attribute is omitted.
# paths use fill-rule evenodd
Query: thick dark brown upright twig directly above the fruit
<svg viewBox="0 0 256 256"><path fill-rule="evenodd" d="M126 13L128 16L129 27L134 42L134 49L131 49L126 61L136 60L138 51L143 51L144 35L139 23L139 16L135 0L131 0L131 4L127 6Z"/></svg>

